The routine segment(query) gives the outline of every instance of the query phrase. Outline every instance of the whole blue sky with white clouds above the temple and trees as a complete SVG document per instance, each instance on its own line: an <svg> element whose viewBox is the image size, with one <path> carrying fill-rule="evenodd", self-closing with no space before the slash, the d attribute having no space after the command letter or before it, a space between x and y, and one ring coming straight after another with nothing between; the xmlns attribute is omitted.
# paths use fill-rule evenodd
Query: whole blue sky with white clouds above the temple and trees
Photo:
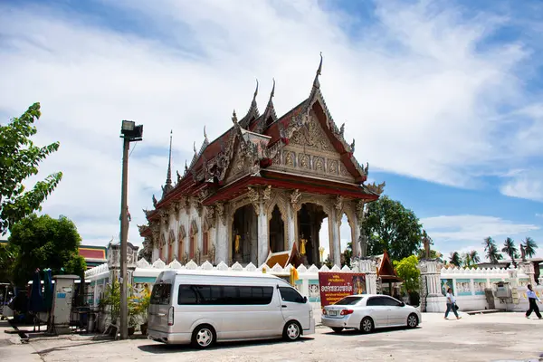
<svg viewBox="0 0 543 362"><path fill-rule="evenodd" d="M42 102L38 140L62 144L42 172L64 172L43 212L92 244L119 233L119 121L144 124L130 157L140 243L169 130L182 170L204 125L217 137L248 109L254 78L261 110L272 78L278 114L305 99L323 52L321 90L358 161L438 250L541 241L541 17L535 0L2 1L0 117Z"/></svg>

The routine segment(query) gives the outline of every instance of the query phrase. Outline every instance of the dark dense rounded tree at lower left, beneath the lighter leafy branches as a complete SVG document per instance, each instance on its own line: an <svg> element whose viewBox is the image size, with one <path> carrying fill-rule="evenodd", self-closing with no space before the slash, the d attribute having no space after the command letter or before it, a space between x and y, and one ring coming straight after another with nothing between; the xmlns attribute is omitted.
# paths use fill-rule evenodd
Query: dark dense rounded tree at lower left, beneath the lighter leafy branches
<svg viewBox="0 0 543 362"><path fill-rule="evenodd" d="M79 255L81 236L65 216L53 219L32 214L14 224L8 242L18 249L14 262L17 285L26 284L37 268L51 268L53 274L63 269L75 275L86 269L85 260Z"/></svg>

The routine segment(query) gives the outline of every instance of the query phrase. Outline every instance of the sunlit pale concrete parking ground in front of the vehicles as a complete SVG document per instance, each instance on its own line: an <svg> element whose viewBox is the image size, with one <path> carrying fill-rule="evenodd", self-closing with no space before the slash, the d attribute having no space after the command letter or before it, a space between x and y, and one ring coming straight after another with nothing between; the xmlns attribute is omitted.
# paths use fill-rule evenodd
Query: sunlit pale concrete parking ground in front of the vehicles
<svg viewBox="0 0 543 362"><path fill-rule="evenodd" d="M417 329L385 329L372 334L333 333L319 327L298 342L258 341L220 344L199 351L147 339L126 341L69 338L31 340L32 357L43 361L539 361L543 320L521 313L463 315L444 320L424 314ZM22 348L12 345L0 348ZM7 356L7 355L5 355ZM29 356L30 357L30 356ZM541 359L543 361L543 358ZM19 362L23 362L19 359Z"/></svg>

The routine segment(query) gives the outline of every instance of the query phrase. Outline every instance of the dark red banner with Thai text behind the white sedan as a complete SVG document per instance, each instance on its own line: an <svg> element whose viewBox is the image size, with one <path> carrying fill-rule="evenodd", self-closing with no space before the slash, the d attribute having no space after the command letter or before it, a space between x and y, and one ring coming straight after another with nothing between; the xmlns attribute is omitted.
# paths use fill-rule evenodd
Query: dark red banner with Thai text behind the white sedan
<svg viewBox="0 0 543 362"><path fill-rule="evenodd" d="M366 294L366 274L319 272L320 305L325 307L353 294Z"/></svg>

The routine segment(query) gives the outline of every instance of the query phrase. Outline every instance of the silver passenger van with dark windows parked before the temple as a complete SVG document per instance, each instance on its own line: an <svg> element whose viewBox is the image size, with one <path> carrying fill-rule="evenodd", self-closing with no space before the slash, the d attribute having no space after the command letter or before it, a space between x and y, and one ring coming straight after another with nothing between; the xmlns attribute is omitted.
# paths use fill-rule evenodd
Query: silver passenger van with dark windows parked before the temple
<svg viewBox="0 0 543 362"><path fill-rule="evenodd" d="M315 333L307 298L270 274L162 271L148 313L148 338L196 348L216 341L293 341Z"/></svg>

